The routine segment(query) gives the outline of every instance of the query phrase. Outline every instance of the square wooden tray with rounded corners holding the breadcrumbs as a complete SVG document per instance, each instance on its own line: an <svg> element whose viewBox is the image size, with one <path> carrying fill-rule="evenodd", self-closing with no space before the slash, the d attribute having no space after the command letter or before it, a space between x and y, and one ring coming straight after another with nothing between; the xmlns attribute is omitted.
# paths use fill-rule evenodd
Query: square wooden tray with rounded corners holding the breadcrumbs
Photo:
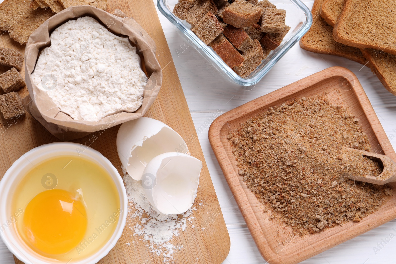
<svg viewBox="0 0 396 264"><path fill-rule="evenodd" d="M341 90L341 96L333 97L337 89ZM280 105L296 97L308 97L324 91L328 93L331 103L348 106L349 111L359 119L359 124L369 137L372 152L385 154L396 161L396 154L366 93L356 76L343 67L327 68L243 104L216 118L209 128L209 141L213 152L247 227L263 258L272 264L300 262L396 217L396 184L390 184L393 188L392 198L379 211L363 218L359 223L351 221L318 234L305 237L294 236L291 228L286 224L277 224L268 219L268 213L263 213L263 206L244 184L242 177L238 175L235 156L231 152L227 139L230 131L247 119L267 111L269 106ZM278 244L278 241L286 242L282 245L282 243Z"/></svg>

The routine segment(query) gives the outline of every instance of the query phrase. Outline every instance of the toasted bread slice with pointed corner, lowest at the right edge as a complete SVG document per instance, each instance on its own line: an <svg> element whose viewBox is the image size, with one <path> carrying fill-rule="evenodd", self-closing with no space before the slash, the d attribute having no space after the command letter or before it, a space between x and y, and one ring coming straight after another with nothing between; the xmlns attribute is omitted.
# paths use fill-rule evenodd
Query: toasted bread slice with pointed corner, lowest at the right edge
<svg viewBox="0 0 396 264"><path fill-rule="evenodd" d="M396 95L396 56L376 49L362 49L385 88Z"/></svg>

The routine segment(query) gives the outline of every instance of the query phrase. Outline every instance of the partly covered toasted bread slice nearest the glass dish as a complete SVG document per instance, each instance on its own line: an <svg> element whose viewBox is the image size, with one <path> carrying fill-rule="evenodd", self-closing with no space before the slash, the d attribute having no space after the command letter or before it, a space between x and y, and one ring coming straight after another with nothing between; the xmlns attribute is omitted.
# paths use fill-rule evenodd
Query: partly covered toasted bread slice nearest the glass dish
<svg viewBox="0 0 396 264"><path fill-rule="evenodd" d="M307 51L336 55L365 65L367 60L360 49L335 42L333 39L333 27L320 16L320 7L324 1L315 0L312 7L312 26L301 38L300 46Z"/></svg>

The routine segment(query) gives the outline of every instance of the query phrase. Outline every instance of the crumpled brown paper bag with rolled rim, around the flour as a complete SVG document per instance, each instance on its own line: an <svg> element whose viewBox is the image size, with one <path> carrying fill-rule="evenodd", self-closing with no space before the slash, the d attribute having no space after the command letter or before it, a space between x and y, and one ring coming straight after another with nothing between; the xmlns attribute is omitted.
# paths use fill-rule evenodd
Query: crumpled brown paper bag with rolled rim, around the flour
<svg viewBox="0 0 396 264"><path fill-rule="evenodd" d="M89 133L139 118L148 110L158 95L162 84L162 69L155 57L154 40L150 38L147 32L133 18L126 17L118 9L115 13L117 16L92 6L70 7L49 18L29 38L25 49L25 80L32 99L25 100L29 101L29 105L25 105L25 108L51 134L59 139L76 139ZM117 34L129 36L130 40L137 44L138 49L143 54L147 71L151 73L151 76L145 87L143 104L136 112L112 114L98 122L73 120L70 116L60 112L59 108L57 108L48 95L32 83L30 74L34 70L39 50L44 46L49 46L49 34L65 21L85 15L93 16L95 19L104 23L109 30ZM65 135L67 133L74 135L70 135L70 137Z"/></svg>

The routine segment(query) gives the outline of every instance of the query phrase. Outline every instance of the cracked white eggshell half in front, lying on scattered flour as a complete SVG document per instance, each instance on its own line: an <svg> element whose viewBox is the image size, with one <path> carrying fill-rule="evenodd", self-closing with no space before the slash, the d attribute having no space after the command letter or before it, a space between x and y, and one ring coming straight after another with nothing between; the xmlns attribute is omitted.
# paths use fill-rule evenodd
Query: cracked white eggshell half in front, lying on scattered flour
<svg viewBox="0 0 396 264"><path fill-rule="evenodd" d="M166 215L181 214L194 203L202 161L171 152L153 158L146 166L142 186L151 205Z"/></svg>

